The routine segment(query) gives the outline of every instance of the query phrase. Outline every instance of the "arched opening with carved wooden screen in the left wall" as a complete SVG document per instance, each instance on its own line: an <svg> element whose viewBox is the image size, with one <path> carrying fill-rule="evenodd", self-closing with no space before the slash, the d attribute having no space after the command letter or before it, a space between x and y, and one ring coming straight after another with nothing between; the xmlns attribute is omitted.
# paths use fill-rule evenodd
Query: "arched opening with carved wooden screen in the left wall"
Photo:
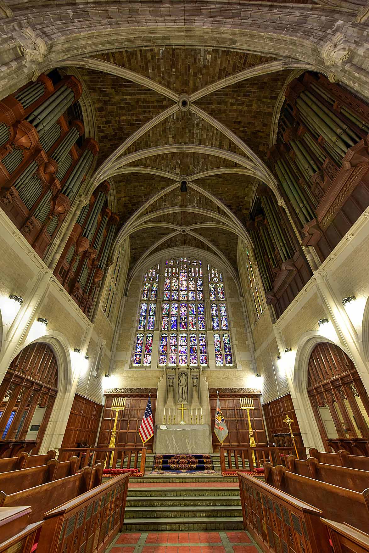
<svg viewBox="0 0 369 553"><path fill-rule="evenodd" d="M0 384L0 457L37 453L58 393L58 363L43 342L22 349Z"/></svg>

